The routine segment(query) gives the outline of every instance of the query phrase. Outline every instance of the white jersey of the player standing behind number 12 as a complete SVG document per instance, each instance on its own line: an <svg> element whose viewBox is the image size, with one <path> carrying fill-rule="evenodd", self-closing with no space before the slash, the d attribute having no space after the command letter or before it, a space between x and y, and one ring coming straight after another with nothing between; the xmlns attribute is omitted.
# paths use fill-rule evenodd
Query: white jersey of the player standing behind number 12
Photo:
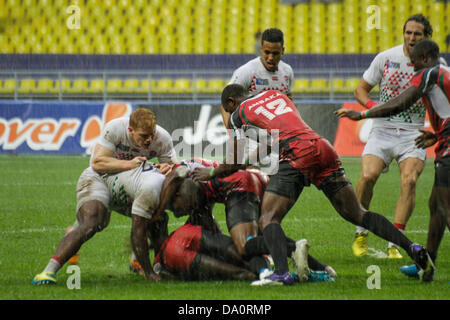
<svg viewBox="0 0 450 320"><path fill-rule="evenodd" d="M280 61L278 70L271 72L264 67L261 57L257 57L236 69L228 84L240 84L251 95L267 90L277 90L287 95L292 90L293 79L294 72L287 63Z"/></svg>

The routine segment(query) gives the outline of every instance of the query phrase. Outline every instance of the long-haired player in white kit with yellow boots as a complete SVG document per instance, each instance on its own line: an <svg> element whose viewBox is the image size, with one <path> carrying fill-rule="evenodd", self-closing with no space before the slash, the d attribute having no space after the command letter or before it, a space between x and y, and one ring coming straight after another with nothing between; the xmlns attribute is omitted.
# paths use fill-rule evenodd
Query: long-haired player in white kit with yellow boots
<svg viewBox="0 0 450 320"><path fill-rule="evenodd" d="M433 29L422 14L408 18L403 26L403 44L379 53L364 72L354 95L360 104L370 109L376 103L370 91L380 85L380 102L387 102L409 87L414 76L410 53L414 45L431 37ZM417 100L407 110L386 118L373 119L373 127L362 153L362 169L356 184L356 194L361 204L369 209L373 189L382 172L386 172L395 159L400 168L401 191L395 208L394 225L405 230L415 206L416 182L425 163L426 150L415 146L414 139L424 128L425 106ZM356 228L353 254L357 257L367 253L368 231ZM398 248L388 244L388 257L402 258Z"/></svg>

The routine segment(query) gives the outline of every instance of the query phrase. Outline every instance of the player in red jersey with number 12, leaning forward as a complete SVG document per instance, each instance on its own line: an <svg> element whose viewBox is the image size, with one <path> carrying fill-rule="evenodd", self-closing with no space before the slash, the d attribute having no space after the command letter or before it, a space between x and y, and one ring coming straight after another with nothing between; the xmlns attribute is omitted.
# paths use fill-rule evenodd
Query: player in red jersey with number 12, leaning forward
<svg viewBox="0 0 450 320"><path fill-rule="evenodd" d="M244 168L244 160L237 158L243 152L237 147L241 145L239 140L245 138L245 129L256 127L269 135L278 134L279 168L270 177L264 192L259 220L265 244L275 263L275 272L266 279L268 285L293 283L281 221L300 196L305 177L325 193L344 219L399 245L421 269L431 272L431 259L423 246L412 243L382 215L361 206L334 148L302 120L288 97L273 90L248 97L242 86L229 85L222 92L222 105L231 113L229 126L235 133L230 144L234 148L230 148L232 154L227 157L232 162L221 164L214 171L197 168L193 172L195 179L211 180L214 176L227 176Z"/></svg>

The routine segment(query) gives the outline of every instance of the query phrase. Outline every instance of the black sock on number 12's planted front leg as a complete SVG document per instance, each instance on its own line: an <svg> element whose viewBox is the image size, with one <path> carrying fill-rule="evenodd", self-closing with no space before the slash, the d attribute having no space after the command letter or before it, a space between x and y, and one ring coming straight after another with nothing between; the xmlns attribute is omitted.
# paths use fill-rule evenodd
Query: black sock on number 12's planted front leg
<svg viewBox="0 0 450 320"><path fill-rule="evenodd" d="M269 224L263 231L264 242L269 249L275 264L275 273L284 274L289 271L287 262L286 236L278 223Z"/></svg>

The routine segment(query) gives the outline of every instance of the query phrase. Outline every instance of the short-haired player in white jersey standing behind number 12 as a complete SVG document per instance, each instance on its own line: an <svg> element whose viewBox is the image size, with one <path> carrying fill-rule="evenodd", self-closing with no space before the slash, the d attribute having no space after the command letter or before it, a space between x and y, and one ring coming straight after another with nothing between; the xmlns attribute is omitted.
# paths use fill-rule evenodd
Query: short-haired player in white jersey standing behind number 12
<svg viewBox="0 0 450 320"><path fill-rule="evenodd" d="M292 67L281 61L284 54L283 32L276 28L266 29L261 36L261 56L240 66L233 72L228 84L240 84L250 95L267 90L277 90L292 100ZM220 107L222 119L228 128L230 114Z"/></svg>

